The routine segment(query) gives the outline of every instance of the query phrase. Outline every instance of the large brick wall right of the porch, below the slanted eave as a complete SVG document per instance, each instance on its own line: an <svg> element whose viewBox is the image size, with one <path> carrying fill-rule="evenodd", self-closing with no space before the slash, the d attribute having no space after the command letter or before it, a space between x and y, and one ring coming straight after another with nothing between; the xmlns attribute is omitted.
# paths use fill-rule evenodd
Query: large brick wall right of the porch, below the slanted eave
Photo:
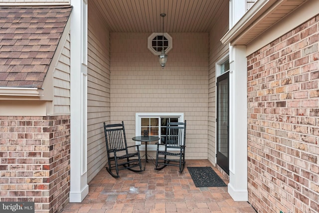
<svg viewBox="0 0 319 213"><path fill-rule="evenodd" d="M248 189L259 213L319 212L319 16L248 56Z"/></svg>

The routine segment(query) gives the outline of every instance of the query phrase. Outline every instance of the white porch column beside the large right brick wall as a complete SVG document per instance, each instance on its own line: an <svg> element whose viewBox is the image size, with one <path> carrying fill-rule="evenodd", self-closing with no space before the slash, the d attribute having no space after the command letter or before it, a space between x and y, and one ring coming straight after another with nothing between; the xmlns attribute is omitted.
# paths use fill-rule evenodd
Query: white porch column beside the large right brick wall
<svg viewBox="0 0 319 213"><path fill-rule="evenodd" d="M230 28L246 12L246 0L229 1ZM234 201L248 201L247 190L247 59L246 46L230 46L230 134L228 193Z"/></svg>

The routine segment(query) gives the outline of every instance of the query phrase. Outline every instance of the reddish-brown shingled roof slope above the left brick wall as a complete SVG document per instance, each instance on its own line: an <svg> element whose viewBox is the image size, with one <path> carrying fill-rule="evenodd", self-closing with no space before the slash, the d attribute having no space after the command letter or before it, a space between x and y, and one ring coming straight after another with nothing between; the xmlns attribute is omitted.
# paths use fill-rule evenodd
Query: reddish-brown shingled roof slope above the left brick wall
<svg viewBox="0 0 319 213"><path fill-rule="evenodd" d="M72 6L0 6L0 87L41 88Z"/></svg>

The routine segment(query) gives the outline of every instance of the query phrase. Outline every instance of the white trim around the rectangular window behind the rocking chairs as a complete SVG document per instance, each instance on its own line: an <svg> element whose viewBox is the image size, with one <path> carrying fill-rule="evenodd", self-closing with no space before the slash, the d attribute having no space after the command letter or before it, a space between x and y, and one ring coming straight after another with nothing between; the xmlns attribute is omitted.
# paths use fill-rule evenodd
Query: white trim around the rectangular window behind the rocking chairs
<svg viewBox="0 0 319 213"><path fill-rule="evenodd" d="M178 122L184 122L184 113L176 112L176 113L165 113L165 112L142 112L135 114L135 136L141 136L141 118L158 118L158 117L178 117ZM159 119L160 122L160 119ZM160 135L160 128L159 128ZM141 145L140 150L145 151L145 144L139 141L136 141L136 145ZM156 151L157 145L148 145L148 151Z"/></svg>

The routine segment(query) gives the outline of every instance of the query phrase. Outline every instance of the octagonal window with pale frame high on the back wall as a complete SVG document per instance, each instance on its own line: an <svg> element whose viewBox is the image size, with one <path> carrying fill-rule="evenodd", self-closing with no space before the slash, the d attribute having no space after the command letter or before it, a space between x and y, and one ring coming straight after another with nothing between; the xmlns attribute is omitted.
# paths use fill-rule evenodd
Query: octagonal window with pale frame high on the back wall
<svg viewBox="0 0 319 213"><path fill-rule="evenodd" d="M172 48L172 38L166 32L164 36L162 32L154 32L148 38L148 48L155 55L160 55L162 49L167 53Z"/></svg>

